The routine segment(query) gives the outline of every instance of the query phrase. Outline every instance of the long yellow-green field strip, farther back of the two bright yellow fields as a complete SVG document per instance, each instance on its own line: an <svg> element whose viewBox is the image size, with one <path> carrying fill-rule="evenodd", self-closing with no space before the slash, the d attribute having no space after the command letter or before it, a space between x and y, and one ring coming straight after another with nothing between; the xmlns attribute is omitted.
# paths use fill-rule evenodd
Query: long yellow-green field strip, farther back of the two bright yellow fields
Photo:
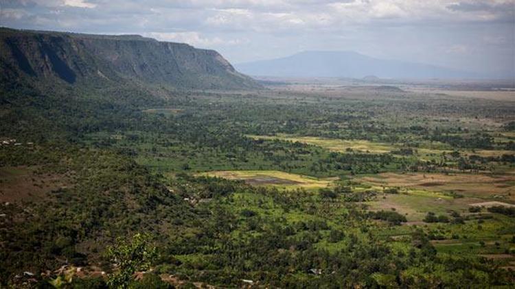
<svg viewBox="0 0 515 289"><path fill-rule="evenodd" d="M380 142L368 140L339 140L334 138L317 138L314 136L292 136L288 134L277 134L276 136L249 136L262 140L286 140L290 142L302 142L308 145L317 145L330 151L345 152L347 149L369 153L388 153L396 147Z"/></svg>

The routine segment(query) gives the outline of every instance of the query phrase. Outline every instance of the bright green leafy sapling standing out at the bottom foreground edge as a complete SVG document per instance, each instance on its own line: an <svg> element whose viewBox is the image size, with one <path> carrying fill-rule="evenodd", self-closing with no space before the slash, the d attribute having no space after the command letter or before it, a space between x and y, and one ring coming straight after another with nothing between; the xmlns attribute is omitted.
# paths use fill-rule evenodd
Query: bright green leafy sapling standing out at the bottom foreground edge
<svg viewBox="0 0 515 289"><path fill-rule="evenodd" d="M157 257L157 249L150 243L150 235L136 234L131 242L122 238L108 247L107 257L115 262L117 270L109 275L107 284L113 288L127 288L136 271L146 271Z"/></svg>

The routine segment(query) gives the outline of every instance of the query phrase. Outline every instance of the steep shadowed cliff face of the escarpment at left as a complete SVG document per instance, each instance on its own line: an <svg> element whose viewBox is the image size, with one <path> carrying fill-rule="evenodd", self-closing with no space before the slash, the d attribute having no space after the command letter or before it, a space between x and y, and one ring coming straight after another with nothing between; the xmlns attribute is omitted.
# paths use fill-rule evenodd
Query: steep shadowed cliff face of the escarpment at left
<svg viewBox="0 0 515 289"><path fill-rule="evenodd" d="M0 29L0 71L14 77L84 81L130 80L179 89L259 85L213 50L141 36L95 36Z"/></svg>

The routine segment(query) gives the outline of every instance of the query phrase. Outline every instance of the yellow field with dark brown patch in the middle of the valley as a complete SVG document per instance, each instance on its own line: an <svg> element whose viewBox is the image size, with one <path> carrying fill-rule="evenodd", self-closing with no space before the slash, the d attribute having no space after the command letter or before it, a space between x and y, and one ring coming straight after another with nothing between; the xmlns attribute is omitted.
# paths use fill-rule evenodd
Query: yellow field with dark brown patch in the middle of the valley
<svg viewBox="0 0 515 289"><path fill-rule="evenodd" d="M240 179L247 184L256 186L273 186L282 189L304 188L306 190L325 188L330 186L332 182L337 179L319 179L306 175L284 173L282 171L211 171L198 175L223 177L225 179Z"/></svg>

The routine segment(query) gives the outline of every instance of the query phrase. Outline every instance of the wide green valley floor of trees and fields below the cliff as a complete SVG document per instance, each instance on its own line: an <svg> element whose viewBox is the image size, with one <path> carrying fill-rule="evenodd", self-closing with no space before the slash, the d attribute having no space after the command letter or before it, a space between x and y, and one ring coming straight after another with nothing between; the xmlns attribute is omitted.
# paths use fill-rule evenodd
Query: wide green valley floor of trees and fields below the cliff
<svg viewBox="0 0 515 289"><path fill-rule="evenodd" d="M1 287L513 284L512 101L80 81L0 87Z"/></svg>

